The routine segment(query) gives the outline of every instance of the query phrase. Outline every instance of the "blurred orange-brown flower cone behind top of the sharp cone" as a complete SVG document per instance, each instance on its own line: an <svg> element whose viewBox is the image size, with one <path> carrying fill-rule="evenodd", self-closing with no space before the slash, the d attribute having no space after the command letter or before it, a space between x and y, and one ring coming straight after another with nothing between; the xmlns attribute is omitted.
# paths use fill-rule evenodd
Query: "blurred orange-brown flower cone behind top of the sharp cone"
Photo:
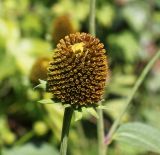
<svg viewBox="0 0 160 155"><path fill-rule="evenodd" d="M53 23L52 40L55 44L59 42L60 39L64 38L66 35L75 32L73 23L71 22L69 15L62 15L57 17Z"/></svg>

